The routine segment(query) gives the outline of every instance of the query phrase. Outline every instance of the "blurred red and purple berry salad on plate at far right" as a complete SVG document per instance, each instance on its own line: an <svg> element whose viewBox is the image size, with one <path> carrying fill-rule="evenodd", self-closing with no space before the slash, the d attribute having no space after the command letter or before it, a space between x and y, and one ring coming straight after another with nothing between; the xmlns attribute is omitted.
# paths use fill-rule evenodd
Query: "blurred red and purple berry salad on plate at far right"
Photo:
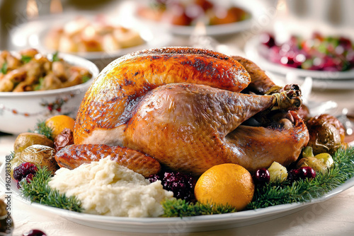
<svg viewBox="0 0 354 236"><path fill-rule="evenodd" d="M269 61L312 71L348 71L354 68L354 44L348 37L314 33L311 38L292 35L279 43L272 33L260 36L261 56Z"/></svg>

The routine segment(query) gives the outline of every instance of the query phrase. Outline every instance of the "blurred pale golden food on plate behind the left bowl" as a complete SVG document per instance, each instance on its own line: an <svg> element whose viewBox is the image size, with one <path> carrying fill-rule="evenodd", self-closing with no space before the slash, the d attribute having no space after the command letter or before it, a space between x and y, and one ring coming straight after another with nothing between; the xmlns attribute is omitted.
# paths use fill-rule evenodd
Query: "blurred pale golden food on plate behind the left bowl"
<svg viewBox="0 0 354 236"><path fill-rule="evenodd" d="M113 52L144 44L139 31L125 28L103 16L89 20L79 16L52 28L45 36L45 46L59 52Z"/></svg>

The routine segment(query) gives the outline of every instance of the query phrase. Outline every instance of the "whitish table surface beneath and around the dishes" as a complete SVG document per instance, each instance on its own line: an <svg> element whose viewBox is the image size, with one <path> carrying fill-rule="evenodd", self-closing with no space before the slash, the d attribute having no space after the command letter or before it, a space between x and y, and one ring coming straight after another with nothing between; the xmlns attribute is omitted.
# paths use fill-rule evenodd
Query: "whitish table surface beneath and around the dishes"
<svg viewBox="0 0 354 236"><path fill-rule="evenodd" d="M220 45L227 47L229 54L239 54L244 56L244 45L249 40L245 33L236 33L216 37ZM174 37L171 46L188 46L188 37ZM281 76L276 78L280 83L284 83ZM281 81L283 80L283 81ZM331 88L314 88L309 94L308 100L315 102L326 102L332 100L337 107L331 109L330 114L340 114L343 108L349 112L354 112L354 92L353 90L332 90ZM326 111L327 112L327 111ZM13 143L16 135L0 133L0 163L4 164L6 155L13 151ZM353 141L353 136L348 136L346 141ZM277 147L275 147L277 148ZM280 148L280 147L278 147ZM0 195L6 196L6 191L1 188ZM289 214L281 215L278 218L266 218L261 221L249 220L244 226L234 228L216 229L207 228L205 232L185 232L185 228L175 227L167 232L120 232L115 230L104 230L95 228L94 225L86 226L74 223L67 218L55 213L45 211L45 209L35 208L28 203L11 198L11 218L15 228L13 235L23 235L31 229L39 229L47 236L74 236L74 235L354 235L354 187L341 191L325 201L308 204L299 211L292 211ZM229 226L230 227L230 226ZM232 226L231 226L232 227ZM193 231L193 230L192 230ZM199 231L199 230L198 230Z"/></svg>

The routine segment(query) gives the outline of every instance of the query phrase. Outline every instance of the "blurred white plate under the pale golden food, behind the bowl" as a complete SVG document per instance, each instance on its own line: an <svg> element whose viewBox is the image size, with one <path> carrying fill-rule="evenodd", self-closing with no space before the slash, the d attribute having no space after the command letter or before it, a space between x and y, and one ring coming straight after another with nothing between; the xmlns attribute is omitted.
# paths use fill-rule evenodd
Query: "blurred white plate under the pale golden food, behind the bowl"
<svg viewBox="0 0 354 236"><path fill-rule="evenodd" d="M45 37L47 33L50 32L55 27L64 25L78 17L84 17L92 21L94 18L98 17L96 13L81 12L81 13L63 13L61 15L55 16L41 16L36 20L30 20L27 23L18 25L11 31L11 49L25 49L28 47L34 47L39 49L40 52L50 53L55 50L47 48L45 46ZM107 18L111 16L107 15ZM120 19L118 19L120 20ZM139 33L144 42L141 45L126 47L112 51L104 52L65 52L69 54L74 54L79 57L84 57L97 64L98 68L103 69L110 61L121 57L125 54L135 52L141 49L149 49L154 47L164 47L169 45L172 40L171 35L165 32L157 32L150 28L144 27L144 25L137 25L127 20L130 25L122 25L126 28L131 28Z"/></svg>

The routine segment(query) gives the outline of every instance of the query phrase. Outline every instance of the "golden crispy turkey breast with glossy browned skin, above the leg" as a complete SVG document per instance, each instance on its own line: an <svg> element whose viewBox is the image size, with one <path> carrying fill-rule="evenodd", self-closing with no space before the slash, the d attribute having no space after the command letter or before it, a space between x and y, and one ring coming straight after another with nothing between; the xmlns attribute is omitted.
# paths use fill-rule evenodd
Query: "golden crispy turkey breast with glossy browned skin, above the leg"
<svg viewBox="0 0 354 236"><path fill-rule="evenodd" d="M121 144L117 138L135 105L160 85L196 83L239 92L250 81L239 62L210 50L169 47L128 54L93 81L76 117L74 143Z"/></svg>

